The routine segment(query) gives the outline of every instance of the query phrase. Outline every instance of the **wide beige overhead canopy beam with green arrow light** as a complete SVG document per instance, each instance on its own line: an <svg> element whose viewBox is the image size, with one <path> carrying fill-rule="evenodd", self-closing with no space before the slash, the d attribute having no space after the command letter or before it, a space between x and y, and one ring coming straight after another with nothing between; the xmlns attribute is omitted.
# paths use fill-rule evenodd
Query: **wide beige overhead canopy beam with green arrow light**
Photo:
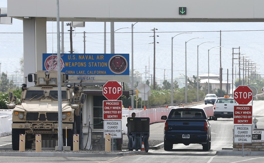
<svg viewBox="0 0 264 163"><path fill-rule="evenodd" d="M60 0L60 21L263 22L262 0ZM9 17L56 21L55 0L7 0ZM180 11L186 7L184 14ZM182 10L183 11L183 10Z"/></svg>

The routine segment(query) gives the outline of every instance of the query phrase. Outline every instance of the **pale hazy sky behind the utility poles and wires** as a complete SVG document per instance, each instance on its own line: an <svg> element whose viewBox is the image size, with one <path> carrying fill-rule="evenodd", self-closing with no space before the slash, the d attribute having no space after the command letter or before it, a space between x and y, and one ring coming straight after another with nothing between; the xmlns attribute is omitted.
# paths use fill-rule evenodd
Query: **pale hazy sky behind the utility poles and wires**
<svg viewBox="0 0 264 163"><path fill-rule="evenodd" d="M6 0L0 0L0 7L6 7ZM64 22L64 32L70 29ZM115 22L115 30L131 27L135 22ZM229 82L232 81L232 48L241 47L241 56L250 59L260 65L259 74L264 75L264 23L207 23L207 22L138 22L134 27L134 69L143 73L145 67L153 74L153 28L156 29L156 77L171 80L171 37L180 32L192 32L192 34L180 34L173 39L173 78L182 78L185 74L185 41L195 37L187 43L187 76L197 75L197 45L199 46L199 75L208 73L208 49L219 46L221 35L221 63L223 67L223 81L227 79L229 69ZM77 53L83 53L83 33L86 34L86 53L104 53L104 22L86 22L85 27L77 27L73 33L73 48ZM258 31L259 30L259 31ZM56 22L47 22L47 52L57 51ZM110 22L106 23L106 53L110 53ZM52 34L54 33L54 34ZM65 34L65 51L70 51L70 34ZM0 25L0 63L1 72L8 72L9 77L15 74L19 68L19 59L23 57L23 22L13 20L13 25ZM238 49L235 49L238 53ZM115 33L115 53L131 54L131 29L120 29ZM131 58L131 57L130 57ZM210 73L219 75L219 47L210 50ZM238 58L235 55L235 58ZM130 60L131 63L131 60ZM238 73L238 60L234 61L234 71ZM130 66L131 69L131 66ZM33 73L33 72L32 72ZM234 72L235 73L235 72ZM242 73L242 71L241 71ZM148 74L147 74L148 76Z"/></svg>

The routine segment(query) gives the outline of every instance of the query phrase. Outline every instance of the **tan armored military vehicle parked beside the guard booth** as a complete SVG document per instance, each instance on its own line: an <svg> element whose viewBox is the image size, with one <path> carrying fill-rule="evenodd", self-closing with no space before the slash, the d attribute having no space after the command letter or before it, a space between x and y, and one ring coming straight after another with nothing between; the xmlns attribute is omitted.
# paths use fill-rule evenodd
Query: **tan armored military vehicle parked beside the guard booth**
<svg viewBox="0 0 264 163"><path fill-rule="evenodd" d="M86 98L82 86L67 84L65 73L61 73L58 81L57 71L28 74L28 81L35 82L35 86L22 84L21 103L14 103L13 93L9 93L13 150L19 150L19 134L26 134L26 149L32 148L35 134L41 134L42 140L58 140L58 82L61 82L63 144L67 127L67 146L72 150L73 134L82 133L82 105Z"/></svg>

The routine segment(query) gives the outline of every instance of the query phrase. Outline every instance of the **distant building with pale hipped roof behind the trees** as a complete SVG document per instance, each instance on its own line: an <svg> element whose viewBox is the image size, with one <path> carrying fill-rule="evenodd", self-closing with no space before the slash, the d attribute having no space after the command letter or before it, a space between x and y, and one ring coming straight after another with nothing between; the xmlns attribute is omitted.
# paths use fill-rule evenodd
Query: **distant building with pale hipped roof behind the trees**
<svg viewBox="0 0 264 163"><path fill-rule="evenodd" d="M219 75L209 74L209 83L211 84L212 89L220 89L219 78L220 78ZM208 85L208 74L199 75L199 79L201 79L200 83L199 83L200 86L205 87ZM227 85L227 81L222 81L222 90L227 92L227 88L228 88L228 91L230 93L231 83L228 83L228 85ZM213 93L213 92L211 92L211 93Z"/></svg>

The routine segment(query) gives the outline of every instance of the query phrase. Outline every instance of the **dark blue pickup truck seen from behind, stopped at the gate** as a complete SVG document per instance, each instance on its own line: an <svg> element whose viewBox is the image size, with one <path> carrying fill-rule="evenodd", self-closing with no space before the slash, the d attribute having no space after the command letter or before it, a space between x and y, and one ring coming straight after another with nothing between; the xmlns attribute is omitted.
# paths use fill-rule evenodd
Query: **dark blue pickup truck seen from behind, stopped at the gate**
<svg viewBox="0 0 264 163"><path fill-rule="evenodd" d="M207 118L204 109L181 107L161 116L164 125L164 150L172 150L173 144L202 144L203 150L211 149L211 124L214 116Z"/></svg>

